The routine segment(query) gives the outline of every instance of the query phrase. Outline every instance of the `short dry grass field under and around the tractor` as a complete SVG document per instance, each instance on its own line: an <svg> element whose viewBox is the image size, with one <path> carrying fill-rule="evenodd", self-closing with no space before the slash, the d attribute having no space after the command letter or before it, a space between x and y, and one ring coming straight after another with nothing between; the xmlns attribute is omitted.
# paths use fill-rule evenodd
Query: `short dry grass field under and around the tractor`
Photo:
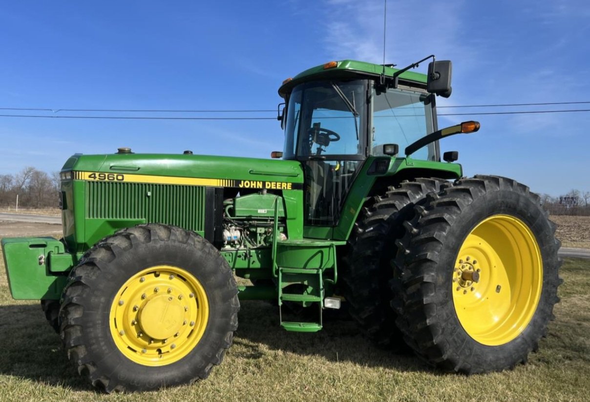
<svg viewBox="0 0 590 402"><path fill-rule="evenodd" d="M199 383L106 395L78 377L38 302L13 300L0 257L0 401L587 401L590 396L590 262L567 259L548 337L513 371L442 374L412 355L381 351L351 321L317 334L278 326L276 308L242 302L224 362Z"/></svg>

